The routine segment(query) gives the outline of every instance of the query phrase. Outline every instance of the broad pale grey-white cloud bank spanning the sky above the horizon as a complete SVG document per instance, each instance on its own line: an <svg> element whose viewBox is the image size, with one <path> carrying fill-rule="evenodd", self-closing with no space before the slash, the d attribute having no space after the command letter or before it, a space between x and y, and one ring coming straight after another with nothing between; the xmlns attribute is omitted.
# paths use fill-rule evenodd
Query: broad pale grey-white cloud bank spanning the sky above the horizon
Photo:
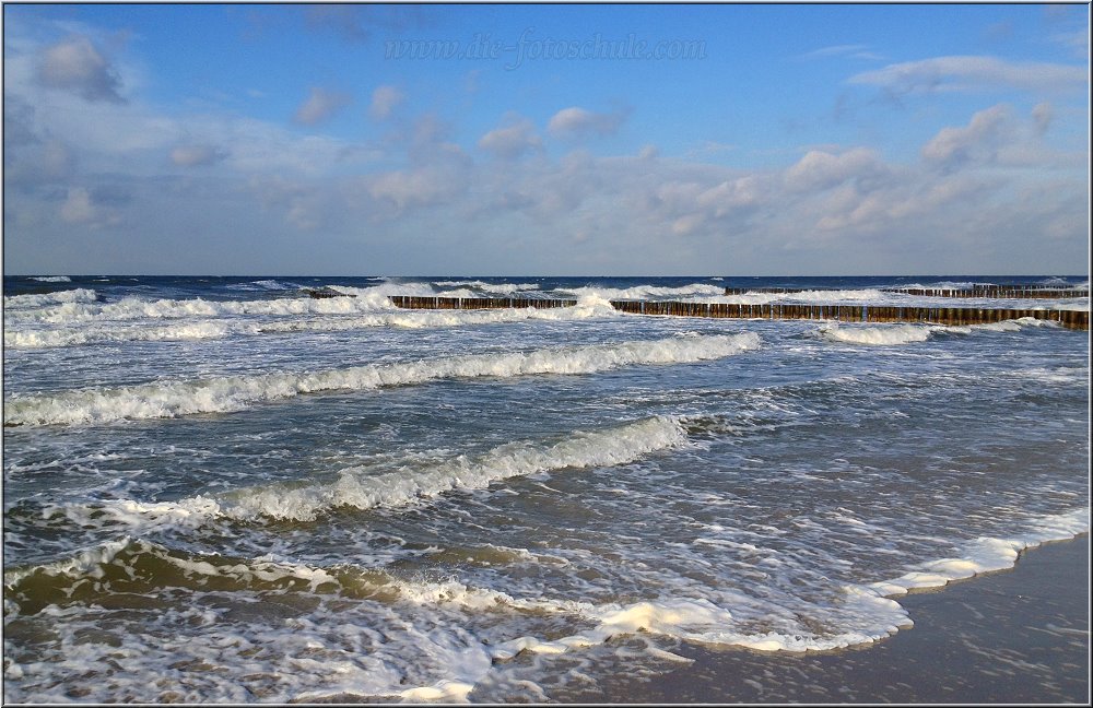
<svg viewBox="0 0 1093 708"><path fill-rule="evenodd" d="M45 83L43 47L5 47L5 220L20 225L5 233L5 248L20 253L15 269L67 270L45 262L62 251L79 253L79 267L91 270L169 262L244 272L298 263L318 272L560 274L929 271L939 262L947 270L1027 263L1050 271L1088 256L1088 145L1066 140L1084 134L1088 116L1084 105L1061 99L1036 98L1031 111L996 106L935 128L930 140L909 146L920 160L906 164L853 144L813 146L780 166L769 163L784 152L765 154L762 166L748 168L704 160L725 148L713 143L683 156L635 142L628 154L557 158L542 149L548 135L580 144L625 120L624 113L576 106L546 128L505 116L465 144L477 144L475 157L498 157L475 162L453 143L467 123L449 126L457 119L445 114L402 120L397 106L404 103L393 99L380 101L379 113L399 120L375 143L301 135L237 113L168 113L131 93L122 62L110 69L126 78L130 102L89 101L82 83ZM943 73L942 81L956 85L969 75ZM331 95L314 102L310 120L344 105ZM1058 138L1054 152L1045 134ZM733 164L748 154L737 153ZM94 245L80 243L96 228L94 239L84 238ZM209 248L195 246L202 238ZM226 238L233 248L220 248L216 239ZM1029 263L1030 238L1056 239L1035 256L1054 260ZM223 260L210 261L209 252ZM38 267L27 264L32 256Z"/></svg>

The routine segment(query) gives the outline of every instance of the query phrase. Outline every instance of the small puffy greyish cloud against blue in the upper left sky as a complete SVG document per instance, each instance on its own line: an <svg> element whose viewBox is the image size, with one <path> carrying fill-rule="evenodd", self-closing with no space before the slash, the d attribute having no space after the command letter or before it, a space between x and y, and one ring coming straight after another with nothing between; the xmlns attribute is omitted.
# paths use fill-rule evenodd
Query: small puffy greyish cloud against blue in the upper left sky
<svg viewBox="0 0 1093 708"><path fill-rule="evenodd" d="M43 49L37 66L39 83L71 91L87 101L124 103L121 80L110 62L82 35Z"/></svg>

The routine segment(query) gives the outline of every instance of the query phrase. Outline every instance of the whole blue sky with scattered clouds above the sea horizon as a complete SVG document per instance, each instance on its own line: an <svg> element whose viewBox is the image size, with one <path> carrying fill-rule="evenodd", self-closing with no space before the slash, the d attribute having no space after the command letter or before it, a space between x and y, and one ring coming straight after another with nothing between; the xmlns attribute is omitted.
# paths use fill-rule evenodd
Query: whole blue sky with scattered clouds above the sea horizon
<svg viewBox="0 0 1093 708"><path fill-rule="evenodd" d="M1085 4L5 4L5 274L1089 273Z"/></svg>

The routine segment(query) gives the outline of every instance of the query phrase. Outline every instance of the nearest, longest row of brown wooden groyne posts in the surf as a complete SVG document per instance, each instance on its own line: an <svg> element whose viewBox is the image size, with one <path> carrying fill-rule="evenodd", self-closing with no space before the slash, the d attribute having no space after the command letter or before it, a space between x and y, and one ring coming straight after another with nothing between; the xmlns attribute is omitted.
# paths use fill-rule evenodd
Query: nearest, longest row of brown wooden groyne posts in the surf
<svg viewBox="0 0 1093 708"><path fill-rule="evenodd" d="M518 297L420 297L392 295L397 307L409 309L498 309L510 307L573 307L573 299ZM804 319L841 322L931 322L937 324L987 324L1032 317L1058 322L1073 330L1088 330L1089 310L1001 309L986 307L891 307L872 305L745 305L670 300L611 300L611 306L633 315L669 315L733 319Z"/></svg>

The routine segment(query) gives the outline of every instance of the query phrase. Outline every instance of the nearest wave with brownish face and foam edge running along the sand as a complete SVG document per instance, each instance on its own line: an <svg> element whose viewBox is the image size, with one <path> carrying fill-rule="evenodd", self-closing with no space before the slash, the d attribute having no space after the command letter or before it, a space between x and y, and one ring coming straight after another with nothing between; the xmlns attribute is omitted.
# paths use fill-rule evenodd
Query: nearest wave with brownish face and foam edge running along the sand
<svg viewBox="0 0 1093 708"><path fill-rule="evenodd" d="M917 564L898 578L843 586L841 599L831 606L807 603L809 614L823 618L820 623L812 626L794 623L792 628L768 630L757 630L747 618L756 606L763 606L763 601L739 592L717 602L685 595L601 604L554 600L549 595L518 598L500 590L468 587L454 579L408 580L381 569L362 569L349 564L326 568L272 555L244 560L184 554L131 535L80 551L67 559L7 570L4 585L5 595L13 597L24 613L50 601L71 599L73 593L102 592L99 588L107 583L111 586L107 591L146 593L165 586L204 586L209 578L216 578L219 586L226 583L236 590L330 593L381 602L457 605L475 613L506 609L556 613L595 625L569 636L548 639L525 635L494 644L489 651L500 661L521 651L565 653L601 645L618 635L637 633L757 651L827 651L870 644L912 626L907 611L893 598L913 589L943 587L953 580L1012 568L1024 550L1088 531L1088 507L1044 517L1012 536L971 541L955 548L954 556ZM524 554L509 555L517 560L524 558ZM96 582L82 582L89 578ZM33 604L22 606L27 603ZM769 610L785 611L777 606Z"/></svg>

